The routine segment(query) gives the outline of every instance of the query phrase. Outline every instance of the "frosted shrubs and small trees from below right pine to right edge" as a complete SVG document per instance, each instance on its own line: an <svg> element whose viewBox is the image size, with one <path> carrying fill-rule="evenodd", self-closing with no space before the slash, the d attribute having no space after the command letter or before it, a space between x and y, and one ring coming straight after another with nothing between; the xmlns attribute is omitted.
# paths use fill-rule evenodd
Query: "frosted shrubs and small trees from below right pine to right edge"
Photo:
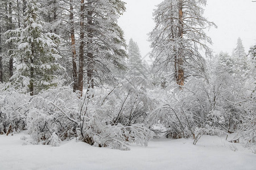
<svg viewBox="0 0 256 170"><path fill-rule="evenodd" d="M239 131L246 143L253 143L254 78L244 71L235 72L229 61L229 56L221 53L216 62L210 61L213 66L209 67L207 80L190 78L182 90L175 85L155 88L152 96L158 100L158 107L148 117L151 128L164 126L162 133L167 137L193 137L194 144L201 135Z"/></svg>

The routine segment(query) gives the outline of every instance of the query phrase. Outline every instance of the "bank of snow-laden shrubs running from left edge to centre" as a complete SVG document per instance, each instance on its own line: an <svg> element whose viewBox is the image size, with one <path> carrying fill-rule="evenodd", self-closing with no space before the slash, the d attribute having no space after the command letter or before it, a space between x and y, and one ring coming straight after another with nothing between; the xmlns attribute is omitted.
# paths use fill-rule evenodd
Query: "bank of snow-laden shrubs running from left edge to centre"
<svg viewBox="0 0 256 170"><path fill-rule="evenodd" d="M68 87L35 96L9 90L1 94L2 100L3 133L10 124L15 129L26 128L34 140L31 143L58 146L60 141L77 138L93 146L128 150L128 143L147 146L152 138L152 131L144 125L147 96L125 86L90 89L80 98Z"/></svg>

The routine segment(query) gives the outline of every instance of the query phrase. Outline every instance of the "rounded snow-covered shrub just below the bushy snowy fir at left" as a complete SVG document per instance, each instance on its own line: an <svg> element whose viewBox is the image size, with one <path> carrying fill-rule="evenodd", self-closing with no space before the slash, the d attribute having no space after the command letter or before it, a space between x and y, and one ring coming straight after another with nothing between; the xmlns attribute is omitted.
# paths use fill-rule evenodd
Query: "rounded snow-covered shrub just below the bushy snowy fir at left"
<svg viewBox="0 0 256 170"><path fill-rule="evenodd" d="M27 129L35 142L49 143L56 133L61 140L76 136L80 99L69 87L50 89L31 98Z"/></svg>

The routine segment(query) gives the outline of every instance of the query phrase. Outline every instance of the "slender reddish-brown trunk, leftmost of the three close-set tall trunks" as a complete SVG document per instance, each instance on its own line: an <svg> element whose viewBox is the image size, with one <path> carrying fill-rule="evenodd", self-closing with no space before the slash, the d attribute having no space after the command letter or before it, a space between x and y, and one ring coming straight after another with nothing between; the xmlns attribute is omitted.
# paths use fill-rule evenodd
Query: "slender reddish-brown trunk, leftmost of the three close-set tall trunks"
<svg viewBox="0 0 256 170"><path fill-rule="evenodd" d="M74 14L73 14L73 0L70 0L70 23L71 23L71 49L72 49L72 76L73 76L73 91L77 90L77 66L76 66L76 40L75 40L75 23L74 23Z"/></svg>

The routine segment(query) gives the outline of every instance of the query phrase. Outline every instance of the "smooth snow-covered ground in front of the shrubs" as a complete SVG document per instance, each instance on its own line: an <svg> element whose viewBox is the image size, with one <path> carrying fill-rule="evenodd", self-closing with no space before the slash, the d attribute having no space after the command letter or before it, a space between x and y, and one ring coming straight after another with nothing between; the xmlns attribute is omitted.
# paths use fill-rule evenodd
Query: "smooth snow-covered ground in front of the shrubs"
<svg viewBox="0 0 256 170"><path fill-rule="evenodd" d="M148 147L130 151L98 148L77 142L60 147L23 145L27 134L0 135L0 169L256 169L256 154L240 143L204 136L192 139L154 139ZM237 148L233 151L230 148Z"/></svg>

